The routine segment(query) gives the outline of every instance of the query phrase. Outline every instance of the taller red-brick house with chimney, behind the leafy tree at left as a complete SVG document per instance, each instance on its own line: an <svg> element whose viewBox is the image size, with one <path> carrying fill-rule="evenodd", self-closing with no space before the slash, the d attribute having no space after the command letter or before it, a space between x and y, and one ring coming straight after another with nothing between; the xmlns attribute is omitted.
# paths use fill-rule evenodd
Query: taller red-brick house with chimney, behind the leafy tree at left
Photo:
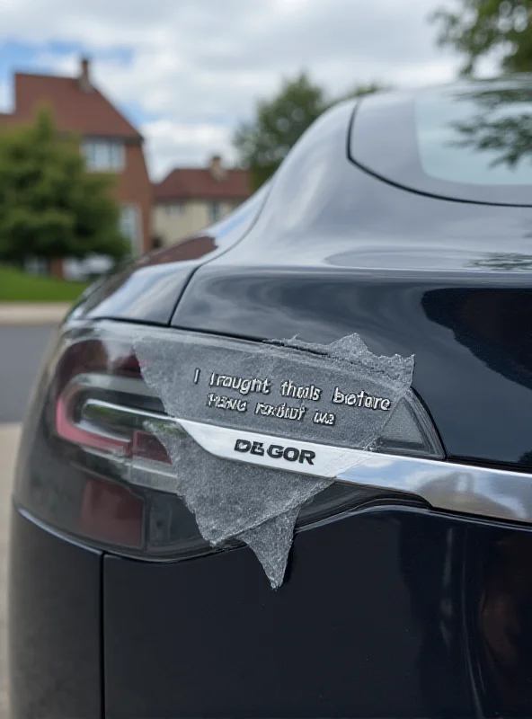
<svg viewBox="0 0 532 719"><path fill-rule="evenodd" d="M134 254L150 249L151 183L146 170L143 138L129 120L93 85L90 64L81 59L77 77L14 75L14 109L0 113L0 130L31 122L46 105L61 133L81 139L87 168L116 173L115 200L120 204L120 228Z"/></svg>

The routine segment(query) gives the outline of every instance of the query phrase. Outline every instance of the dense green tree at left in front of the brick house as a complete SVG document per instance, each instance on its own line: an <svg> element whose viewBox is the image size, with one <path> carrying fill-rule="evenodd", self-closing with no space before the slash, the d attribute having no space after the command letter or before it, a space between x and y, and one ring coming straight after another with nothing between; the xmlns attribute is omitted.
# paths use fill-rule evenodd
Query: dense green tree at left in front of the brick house
<svg viewBox="0 0 532 719"><path fill-rule="evenodd" d="M33 125L0 133L0 260L123 257L112 182L86 172L79 142L59 138L45 109Z"/></svg>

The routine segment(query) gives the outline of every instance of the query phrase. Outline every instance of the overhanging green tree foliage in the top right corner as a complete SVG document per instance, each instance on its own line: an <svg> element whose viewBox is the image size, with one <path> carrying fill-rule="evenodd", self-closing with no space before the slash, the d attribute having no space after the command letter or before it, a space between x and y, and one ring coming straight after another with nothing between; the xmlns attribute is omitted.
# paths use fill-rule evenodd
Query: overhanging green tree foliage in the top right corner
<svg viewBox="0 0 532 719"><path fill-rule="evenodd" d="M463 75L472 75L480 58L494 52L505 72L532 70L532 0L459 0L456 11L430 15L439 25L438 43L465 58Z"/></svg>

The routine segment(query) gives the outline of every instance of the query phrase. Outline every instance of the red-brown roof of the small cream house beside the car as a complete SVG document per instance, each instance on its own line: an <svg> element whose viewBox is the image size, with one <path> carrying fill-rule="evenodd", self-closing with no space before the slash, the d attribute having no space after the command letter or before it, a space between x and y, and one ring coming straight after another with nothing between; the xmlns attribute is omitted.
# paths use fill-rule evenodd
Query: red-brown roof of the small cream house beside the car
<svg viewBox="0 0 532 719"><path fill-rule="evenodd" d="M249 173L226 170L217 179L208 169L176 168L154 185L155 202L172 200L245 200L252 194Z"/></svg>

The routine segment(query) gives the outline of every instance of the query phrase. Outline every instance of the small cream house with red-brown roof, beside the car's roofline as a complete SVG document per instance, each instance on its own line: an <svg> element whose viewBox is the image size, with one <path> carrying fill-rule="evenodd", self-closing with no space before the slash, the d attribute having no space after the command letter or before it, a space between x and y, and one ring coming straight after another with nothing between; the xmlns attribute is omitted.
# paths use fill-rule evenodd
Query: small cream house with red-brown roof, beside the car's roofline
<svg viewBox="0 0 532 719"><path fill-rule="evenodd" d="M177 167L154 184L154 235L160 244L178 243L224 217L251 194L249 173L226 170L219 155L207 168Z"/></svg>

